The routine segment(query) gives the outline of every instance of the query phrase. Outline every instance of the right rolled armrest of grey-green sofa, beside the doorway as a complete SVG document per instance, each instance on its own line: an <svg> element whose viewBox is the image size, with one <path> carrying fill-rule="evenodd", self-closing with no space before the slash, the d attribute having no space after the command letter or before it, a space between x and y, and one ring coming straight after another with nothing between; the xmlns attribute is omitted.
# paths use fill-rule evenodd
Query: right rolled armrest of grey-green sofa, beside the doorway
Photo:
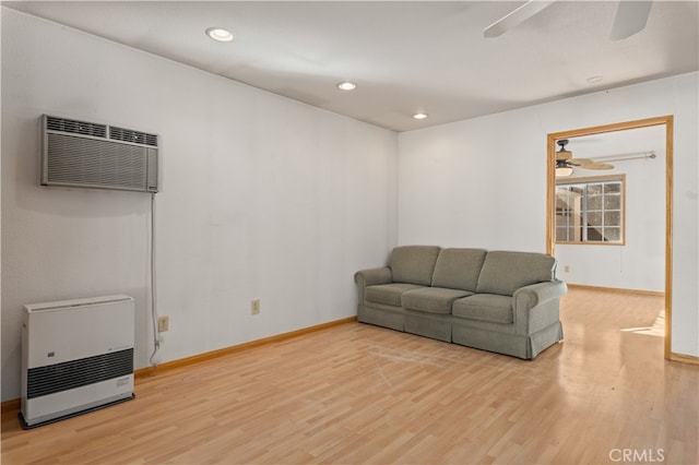
<svg viewBox="0 0 699 465"><path fill-rule="evenodd" d="M558 279L517 289L512 296L516 332L531 334L558 321L560 298L567 290Z"/></svg>

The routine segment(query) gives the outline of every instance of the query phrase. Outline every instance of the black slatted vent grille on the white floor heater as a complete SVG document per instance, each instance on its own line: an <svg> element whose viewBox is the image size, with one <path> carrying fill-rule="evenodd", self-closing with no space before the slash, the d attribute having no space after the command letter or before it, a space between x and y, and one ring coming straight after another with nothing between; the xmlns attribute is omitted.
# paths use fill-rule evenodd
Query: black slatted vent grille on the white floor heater
<svg viewBox="0 0 699 465"><path fill-rule="evenodd" d="M133 373L133 348L31 368L27 398L68 391Z"/></svg>

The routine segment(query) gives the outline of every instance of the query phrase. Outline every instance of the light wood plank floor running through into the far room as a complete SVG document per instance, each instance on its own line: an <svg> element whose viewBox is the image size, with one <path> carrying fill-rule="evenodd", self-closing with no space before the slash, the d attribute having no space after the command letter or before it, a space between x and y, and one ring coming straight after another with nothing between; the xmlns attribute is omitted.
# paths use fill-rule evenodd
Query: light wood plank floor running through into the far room
<svg viewBox="0 0 699 465"><path fill-rule="evenodd" d="M133 401L34 430L7 413L2 464L697 464L699 366L642 331L662 306L570 289L565 342L534 361L343 324L140 378Z"/></svg>

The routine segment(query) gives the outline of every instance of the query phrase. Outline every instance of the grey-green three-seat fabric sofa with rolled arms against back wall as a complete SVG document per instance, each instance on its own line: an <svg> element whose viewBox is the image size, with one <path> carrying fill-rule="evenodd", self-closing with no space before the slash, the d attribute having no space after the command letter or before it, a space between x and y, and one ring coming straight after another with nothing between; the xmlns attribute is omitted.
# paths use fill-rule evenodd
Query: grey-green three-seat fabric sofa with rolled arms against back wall
<svg viewBox="0 0 699 465"><path fill-rule="evenodd" d="M522 359L562 339L567 287L543 253L403 246L355 283L362 323Z"/></svg>

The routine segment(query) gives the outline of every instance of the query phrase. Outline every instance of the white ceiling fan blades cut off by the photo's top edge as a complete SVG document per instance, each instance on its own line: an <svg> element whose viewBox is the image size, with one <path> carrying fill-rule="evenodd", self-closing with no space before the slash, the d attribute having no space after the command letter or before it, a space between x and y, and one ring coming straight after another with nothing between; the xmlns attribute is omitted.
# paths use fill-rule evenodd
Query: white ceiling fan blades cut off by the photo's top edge
<svg viewBox="0 0 699 465"><path fill-rule="evenodd" d="M526 3L483 29L483 36L491 38L502 35L555 2L556 0L529 0ZM612 40L620 40L643 31L645 23L648 22L648 15L651 11L651 0L620 0L616 10L616 17L614 19L614 25L612 26L609 38Z"/></svg>

